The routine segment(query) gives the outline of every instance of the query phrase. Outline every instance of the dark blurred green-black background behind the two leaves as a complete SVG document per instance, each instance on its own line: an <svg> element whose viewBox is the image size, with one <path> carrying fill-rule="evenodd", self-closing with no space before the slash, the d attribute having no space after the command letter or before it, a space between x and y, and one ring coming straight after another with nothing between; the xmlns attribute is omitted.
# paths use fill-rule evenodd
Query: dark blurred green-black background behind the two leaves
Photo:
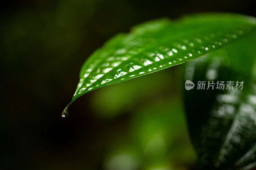
<svg viewBox="0 0 256 170"><path fill-rule="evenodd" d="M85 59L116 33L128 32L143 21L176 19L194 12L256 16L253 2L6 1L0 12L0 166L114 169L117 165L118 169L122 158L113 163L111 155L132 152L128 162L135 169L156 165L195 169L196 155L182 106L170 104L181 95L175 76L171 76L178 74L177 69L97 89L74 102L67 118L62 118L61 112L73 96ZM170 108L178 111L169 116ZM147 129L157 124L169 130L156 129L169 136L164 144L161 135L156 137L160 150L164 146L160 156L145 150L148 136L154 136Z"/></svg>

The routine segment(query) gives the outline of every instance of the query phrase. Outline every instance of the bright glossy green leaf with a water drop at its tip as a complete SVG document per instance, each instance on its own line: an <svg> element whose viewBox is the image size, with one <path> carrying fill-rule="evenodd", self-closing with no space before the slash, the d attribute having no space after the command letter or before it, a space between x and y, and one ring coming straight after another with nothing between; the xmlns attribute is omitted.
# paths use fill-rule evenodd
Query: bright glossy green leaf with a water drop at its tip
<svg viewBox="0 0 256 170"><path fill-rule="evenodd" d="M192 15L177 21L158 19L135 26L131 33L111 38L86 60L68 106L89 91L198 58L255 28L253 17L222 13Z"/></svg>

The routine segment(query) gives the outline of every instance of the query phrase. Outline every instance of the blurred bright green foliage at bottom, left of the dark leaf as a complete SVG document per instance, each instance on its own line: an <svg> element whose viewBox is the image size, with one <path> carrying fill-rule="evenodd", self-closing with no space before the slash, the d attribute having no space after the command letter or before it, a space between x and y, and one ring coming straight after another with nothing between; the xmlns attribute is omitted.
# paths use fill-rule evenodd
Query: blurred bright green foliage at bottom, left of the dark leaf
<svg viewBox="0 0 256 170"><path fill-rule="evenodd" d="M196 156L189 143L181 103L181 98L174 95L171 99L160 97L149 104L142 104L141 109L133 113L128 133L112 145L109 156L105 158L106 169L114 166L118 167L113 169L125 169L121 168L124 164L134 167L131 169L193 166ZM125 143L132 147L124 147ZM132 160L121 162L126 154ZM117 160L120 162L116 163Z"/></svg>

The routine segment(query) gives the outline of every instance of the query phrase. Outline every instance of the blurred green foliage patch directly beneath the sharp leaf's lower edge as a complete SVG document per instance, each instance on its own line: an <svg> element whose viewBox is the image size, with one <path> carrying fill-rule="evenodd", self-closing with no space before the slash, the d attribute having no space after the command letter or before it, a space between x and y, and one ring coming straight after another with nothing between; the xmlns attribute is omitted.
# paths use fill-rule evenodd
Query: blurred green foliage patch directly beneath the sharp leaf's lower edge
<svg viewBox="0 0 256 170"><path fill-rule="evenodd" d="M173 74L174 76L170 76ZM118 114L130 112L132 108L136 110L138 105L149 99L154 100L157 96L165 95L169 89L175 88L173 81L174 69L163 70L161 73L156 72L132 81L97 89L90 104L98 117L114 118Z"/></svg>

